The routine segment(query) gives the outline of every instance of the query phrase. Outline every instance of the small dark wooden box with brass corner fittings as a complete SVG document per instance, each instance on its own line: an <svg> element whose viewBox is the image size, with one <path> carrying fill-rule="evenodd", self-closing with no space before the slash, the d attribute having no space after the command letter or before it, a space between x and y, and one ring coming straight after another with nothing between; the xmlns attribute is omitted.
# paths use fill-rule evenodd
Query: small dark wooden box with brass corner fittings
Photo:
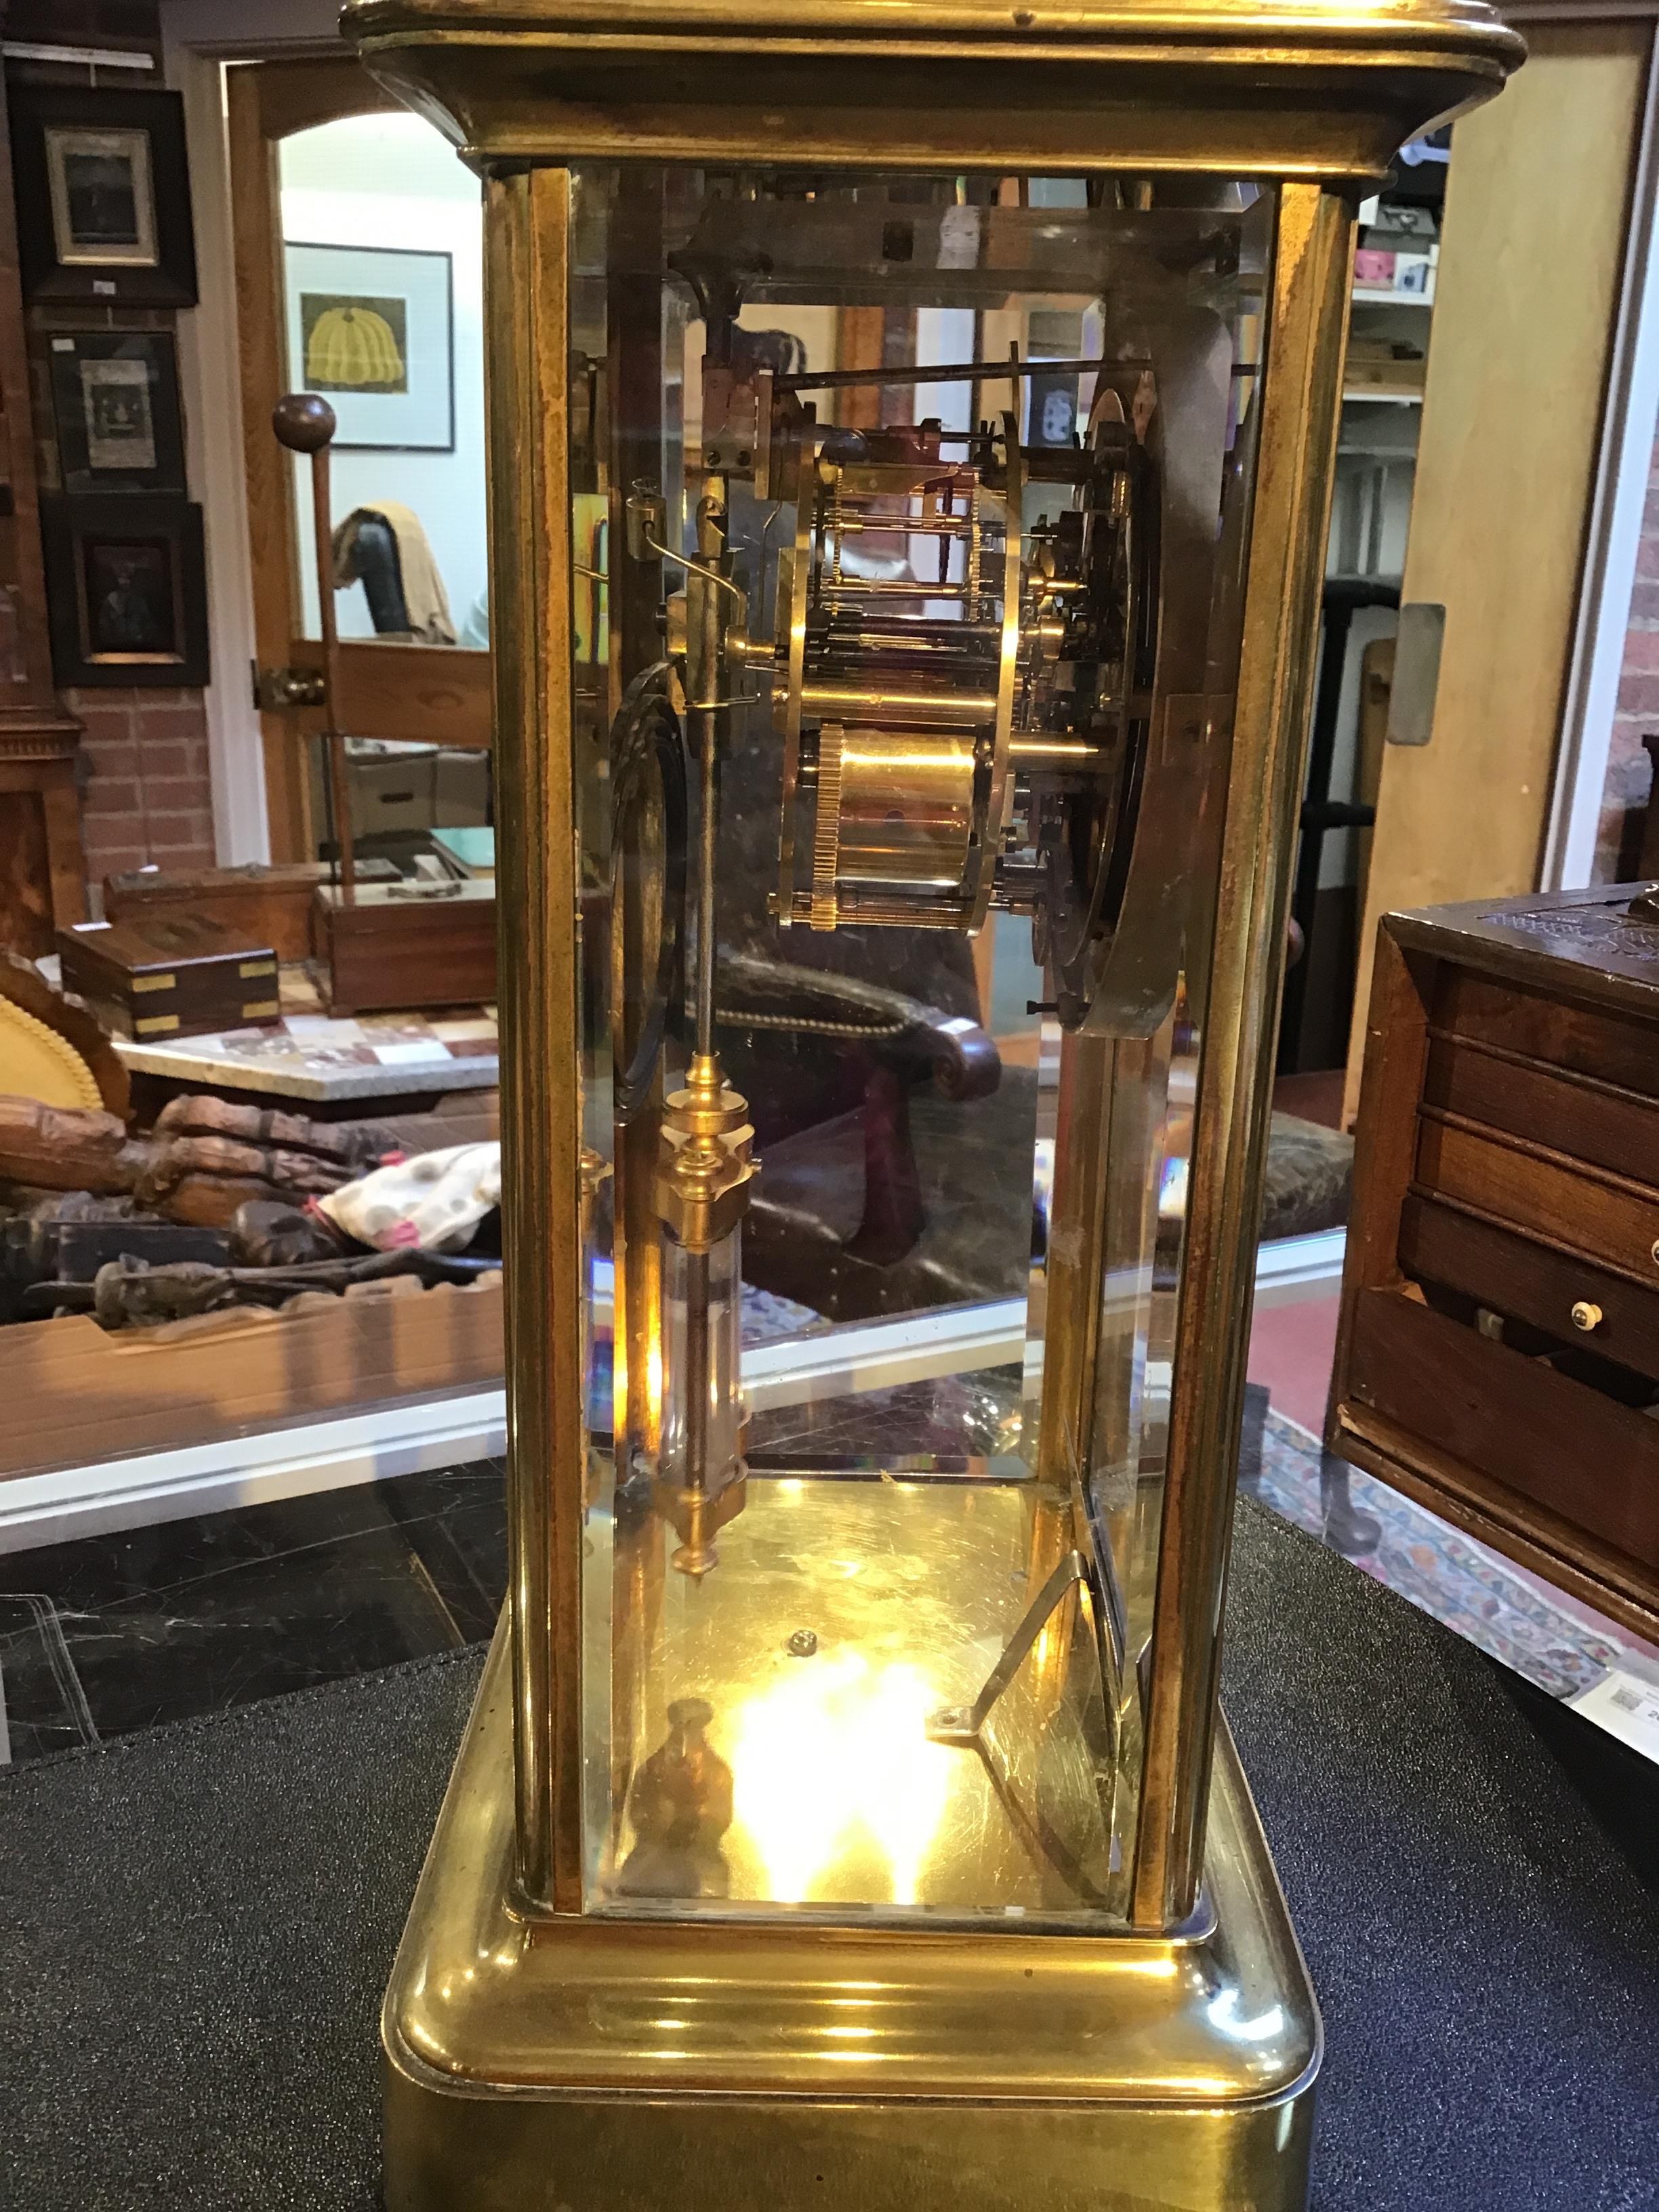
<svg viewBox="0 0 1659 2212"><path fill-rule="evenodd" d="M58 931L64 991L119 1037L188 1037L274 1022L276 953L197 914Z"/></svg>

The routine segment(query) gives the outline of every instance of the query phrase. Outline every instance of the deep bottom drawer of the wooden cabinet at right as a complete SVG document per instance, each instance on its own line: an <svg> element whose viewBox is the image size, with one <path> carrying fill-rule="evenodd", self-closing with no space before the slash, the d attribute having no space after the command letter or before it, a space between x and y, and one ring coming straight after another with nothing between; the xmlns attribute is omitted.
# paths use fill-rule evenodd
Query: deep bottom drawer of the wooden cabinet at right
<svg viewBox="0 0 1659 2212"><path fill-rule="evenodd" d="M1398 1290L1354 1303L1345 1396L1409 1438L1659 1566L1659 1420Z"/></svg>

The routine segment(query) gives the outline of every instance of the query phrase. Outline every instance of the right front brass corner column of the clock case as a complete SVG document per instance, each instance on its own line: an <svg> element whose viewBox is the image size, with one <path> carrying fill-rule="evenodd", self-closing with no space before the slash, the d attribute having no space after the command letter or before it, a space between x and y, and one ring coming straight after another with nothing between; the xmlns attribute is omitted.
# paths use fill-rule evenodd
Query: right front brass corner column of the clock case
<svg viewBox="0 0 1659 2212"><path fill-rule="evenodd" d="M1245 650L1221 827L1219 927L1203 989L1188 1265L1175 1318L1177 1380L1135 1854L1135 1924L1146 1929L1183 1920L1203 1876L1221 1606L1290 869L1318 659L1318 580L1343 405L1352 252L1347 197L1287 184L1279 201ZM1201 1389L1181 1387L1190 1374L1203 1376Z"/></svg>

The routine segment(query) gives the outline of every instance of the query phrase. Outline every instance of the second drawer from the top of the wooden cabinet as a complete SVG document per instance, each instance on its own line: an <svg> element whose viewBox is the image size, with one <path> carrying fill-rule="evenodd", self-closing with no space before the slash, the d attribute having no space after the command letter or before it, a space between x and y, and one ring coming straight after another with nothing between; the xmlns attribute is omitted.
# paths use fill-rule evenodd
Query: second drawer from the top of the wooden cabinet
<svg viewBox="0 0 1659 2212"><path fill-rule="evenodd" d="M1467 1121L1528 1137L1635 1183L1659 1183L1659 1099L1639 1091L1617 1091L1586 1075L1436 1037L1422 1097Z"/></svg>

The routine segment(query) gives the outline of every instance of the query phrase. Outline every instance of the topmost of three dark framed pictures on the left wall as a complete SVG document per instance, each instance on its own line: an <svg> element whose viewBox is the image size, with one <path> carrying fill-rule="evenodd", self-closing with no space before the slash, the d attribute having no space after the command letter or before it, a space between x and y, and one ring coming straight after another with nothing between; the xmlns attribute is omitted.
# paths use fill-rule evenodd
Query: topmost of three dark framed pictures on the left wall
<svg viewBox="0 0 1659 2212"><path fill-rule="evenodd" d="M195 305L179 93L18 84L11 166L24 299Z"/></svg>

